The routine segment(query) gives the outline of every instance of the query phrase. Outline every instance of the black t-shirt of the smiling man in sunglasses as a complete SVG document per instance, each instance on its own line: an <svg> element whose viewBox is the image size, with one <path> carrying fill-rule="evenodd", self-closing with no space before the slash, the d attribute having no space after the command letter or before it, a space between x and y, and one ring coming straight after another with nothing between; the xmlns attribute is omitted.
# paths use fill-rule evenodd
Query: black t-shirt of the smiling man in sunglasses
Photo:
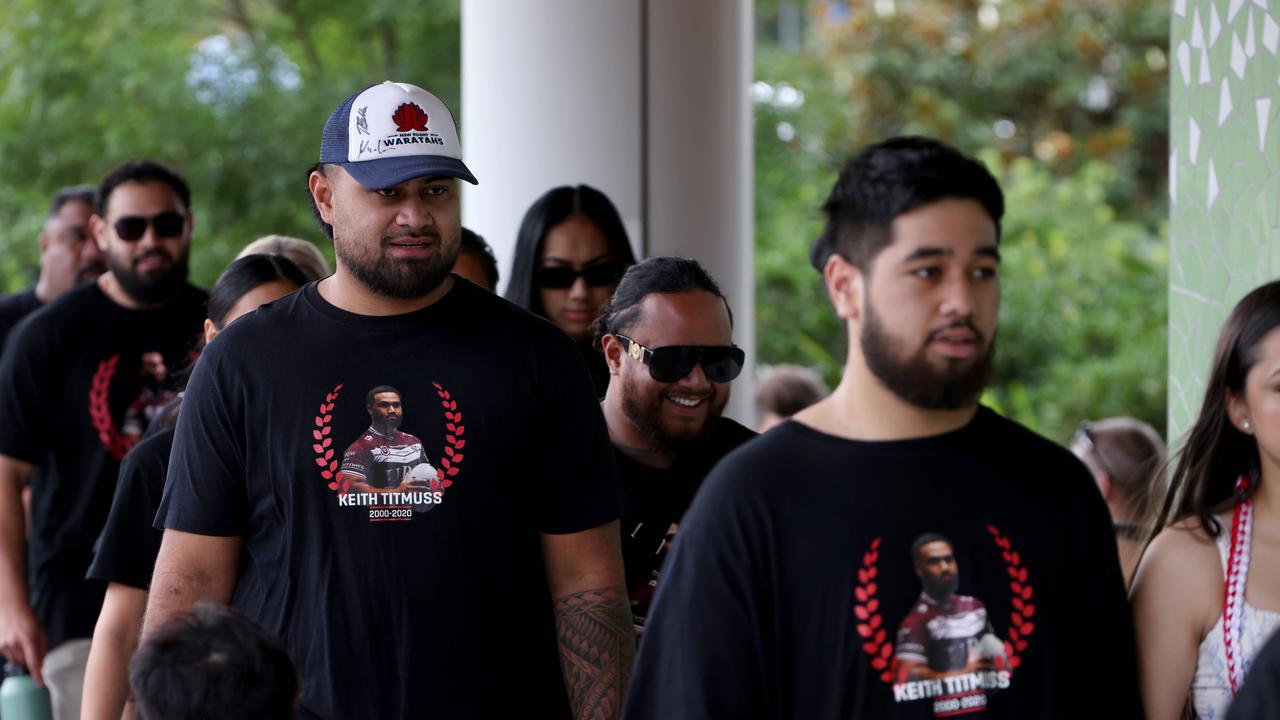
<svg viewBox="0 0 1280 720"><path fill-rule="evenodd" d="M627 597L636 625L644 625L649 601L667 552L667 530L678 523L712 468L733 448L755 437L742 425L719 418L710 433L676 455L671 468L653 468L614 447L627 511L622 515L622 561Z"/></svg>

